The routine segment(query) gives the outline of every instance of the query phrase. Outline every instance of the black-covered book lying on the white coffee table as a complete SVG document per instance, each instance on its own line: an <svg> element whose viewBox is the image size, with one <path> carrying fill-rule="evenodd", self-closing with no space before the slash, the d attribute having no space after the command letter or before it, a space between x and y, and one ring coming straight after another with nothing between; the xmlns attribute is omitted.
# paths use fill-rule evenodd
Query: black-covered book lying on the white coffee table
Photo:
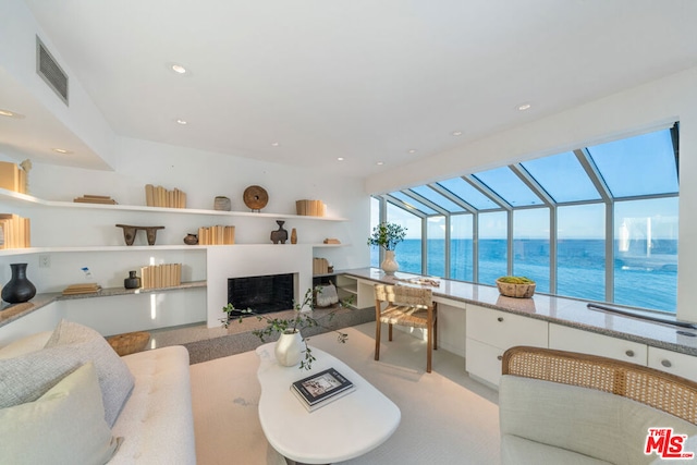
<svg viewBox="0 0 697 465"><path fill-rule="evenodd" d="M291 391L308 412L341 399L355 389L354 383L334 368L328 368L291 384Z"/></svg>

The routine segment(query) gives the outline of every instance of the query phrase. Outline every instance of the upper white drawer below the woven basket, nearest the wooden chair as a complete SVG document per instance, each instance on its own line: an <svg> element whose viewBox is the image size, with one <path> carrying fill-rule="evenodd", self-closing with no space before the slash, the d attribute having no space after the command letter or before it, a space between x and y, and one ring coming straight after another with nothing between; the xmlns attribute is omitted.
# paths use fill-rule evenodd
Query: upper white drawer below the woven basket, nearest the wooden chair
<svg viewBox="0 0 697 465"><path fill-rule="evenodd" d="M547 347L547 321L489 308L467 306L466 334L499 348L514 345Z"/></svg>

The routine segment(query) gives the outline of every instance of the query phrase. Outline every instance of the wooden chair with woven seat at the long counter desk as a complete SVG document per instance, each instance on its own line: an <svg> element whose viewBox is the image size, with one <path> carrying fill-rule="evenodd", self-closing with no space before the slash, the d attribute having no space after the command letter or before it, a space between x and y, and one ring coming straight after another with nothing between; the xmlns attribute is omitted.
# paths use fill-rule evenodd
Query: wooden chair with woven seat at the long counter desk
<svg viewBox="0 0 697 465"><path fill-rule="evenodd" d="M431 351L438 348L437 310L437 304L433 302L430 289L376 284L375 359L380 359L380 330L382 323L388 323L390 341L392 341L392 325L420 328L427 332L426 371L431 372Z"/></svg>

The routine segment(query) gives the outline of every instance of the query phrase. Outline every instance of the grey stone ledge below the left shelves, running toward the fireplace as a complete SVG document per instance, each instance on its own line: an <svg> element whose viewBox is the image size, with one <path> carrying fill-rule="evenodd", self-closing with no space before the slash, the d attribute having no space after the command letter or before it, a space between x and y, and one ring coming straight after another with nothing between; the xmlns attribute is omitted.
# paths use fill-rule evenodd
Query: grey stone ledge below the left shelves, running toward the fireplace
<svg viewBox="0 0 697 465"><path fill-rule="evenodd" d="M49 305L54 301L73 301L77 298L95 298L95 297L112 297L114 295L129 294L147 294L152 292L176 291L180 289L206 287L206 281L183 282L173 287L157 289L125 289L125 287L106 287L97 292L86 294L63 295L61 292L51 292L45 294L36 294L29 302L22 304L8 304L3 302L0 305L0 327L3 327L19 318L22 318L41 307Z"/></svg>

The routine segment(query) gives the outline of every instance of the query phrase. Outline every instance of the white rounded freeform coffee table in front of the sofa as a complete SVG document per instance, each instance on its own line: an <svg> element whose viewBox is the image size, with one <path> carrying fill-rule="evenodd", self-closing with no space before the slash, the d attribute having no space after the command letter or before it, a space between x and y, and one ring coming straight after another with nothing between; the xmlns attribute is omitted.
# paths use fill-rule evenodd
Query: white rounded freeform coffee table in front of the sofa
<svg viewBox="0 0 697 465"><path fill-rule="evenodd" d="M328 464L357 457L387 441L400 425L402 414L384 394L340 359L313 347L311 370L280 366L276 343L256 350L261 363L259 420L269 443L283 456L298 463ZM294 381L335 368L356 390L314 412L307 412L291 392Z"/></svg>

